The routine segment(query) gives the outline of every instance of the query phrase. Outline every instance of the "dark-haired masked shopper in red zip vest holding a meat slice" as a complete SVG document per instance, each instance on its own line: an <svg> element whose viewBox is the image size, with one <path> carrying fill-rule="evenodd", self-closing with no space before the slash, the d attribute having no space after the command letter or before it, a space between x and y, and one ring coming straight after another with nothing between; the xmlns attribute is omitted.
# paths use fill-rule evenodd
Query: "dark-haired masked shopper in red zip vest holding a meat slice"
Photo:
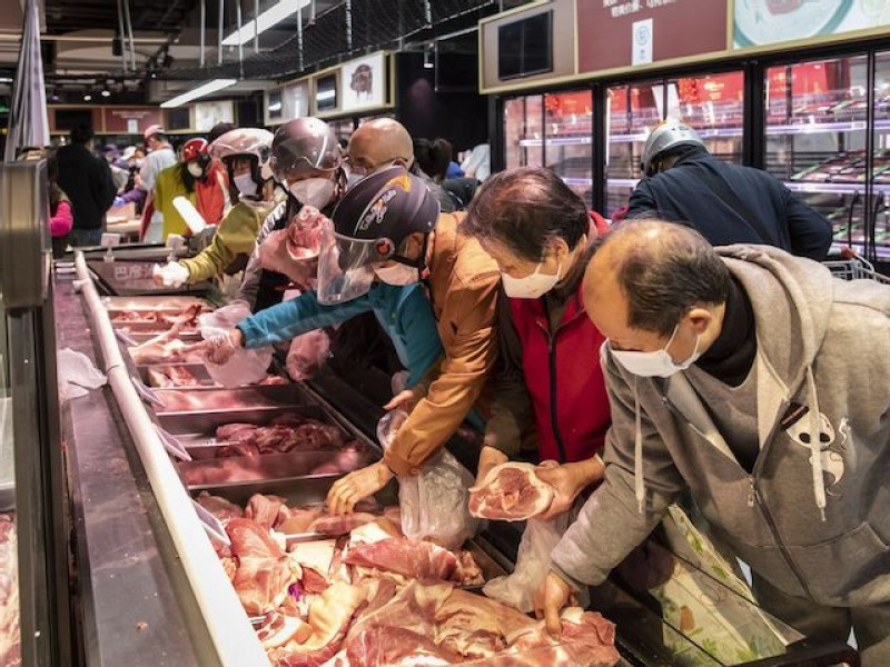
<svg viewBox="0 0 890 667"><path fill-rule="evenodd" d="M488 179L461 223L501 269L501 372L486 422L477 480L536 435L538 477L556 489L547 517L566 511L602 480L600 454L611 424L582 278L589 247L609 227L550 169L526 167ZM585 350L581 352L581 350Z"/></svg>

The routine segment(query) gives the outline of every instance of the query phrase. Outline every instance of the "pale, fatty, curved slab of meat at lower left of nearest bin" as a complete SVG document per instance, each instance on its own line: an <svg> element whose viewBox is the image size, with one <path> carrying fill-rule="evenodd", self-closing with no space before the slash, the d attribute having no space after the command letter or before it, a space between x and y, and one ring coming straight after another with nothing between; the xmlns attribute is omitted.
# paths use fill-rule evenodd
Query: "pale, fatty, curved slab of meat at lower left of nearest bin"
<svg viewBox="0 0 890 667"><path fill-rule="evenodd" d="M367 599L367 590L342 581L332 584L309 607L312 635L303 643L289 641L269 653L276 667L318 667L343 645L353 616Z"/></svg>

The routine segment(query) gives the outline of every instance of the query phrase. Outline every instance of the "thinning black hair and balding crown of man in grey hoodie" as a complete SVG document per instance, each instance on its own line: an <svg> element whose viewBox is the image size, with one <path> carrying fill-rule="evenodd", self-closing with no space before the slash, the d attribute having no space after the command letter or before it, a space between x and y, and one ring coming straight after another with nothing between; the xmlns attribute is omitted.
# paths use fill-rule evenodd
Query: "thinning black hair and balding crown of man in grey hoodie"
<svg viewBox="0 0 890 667"><path fill-rule="evenodd" d="M646 233L653 229L659 231L655 237ZM664 220L627 220L596 240L596 252L627 235L636 238L625 239L614 269L627 299L629 327L668 337L696 303L726 301L730 270L695 229Z"/></svg>

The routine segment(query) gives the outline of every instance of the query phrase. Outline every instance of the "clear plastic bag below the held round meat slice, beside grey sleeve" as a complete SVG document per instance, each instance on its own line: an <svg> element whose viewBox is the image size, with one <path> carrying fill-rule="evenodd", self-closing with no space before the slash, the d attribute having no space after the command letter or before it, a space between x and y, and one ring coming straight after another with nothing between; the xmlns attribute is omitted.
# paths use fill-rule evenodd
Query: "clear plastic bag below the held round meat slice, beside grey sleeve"
<svg viewBox="0 0 890 667"><path fill-rule="evenodd" d="M550 521L528 519L525 532L522 534L513 574L492 579L482 589L483 593L525 614L534 611L535 591L547 576L551 551L568 528L568 514L562 514Z"/></svg>

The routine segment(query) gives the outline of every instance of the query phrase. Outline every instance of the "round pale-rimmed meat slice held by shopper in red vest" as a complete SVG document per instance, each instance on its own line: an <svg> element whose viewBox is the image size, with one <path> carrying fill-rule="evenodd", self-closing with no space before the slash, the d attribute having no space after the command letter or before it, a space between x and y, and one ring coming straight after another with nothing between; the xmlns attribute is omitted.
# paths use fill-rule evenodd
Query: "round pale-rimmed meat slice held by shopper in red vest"
<svg viewBox="0 0 890 667"><path fill-rule="evenodd" d="M535 475L531 464L495 466L469 489L469 514L483 519L524 521L547 510L553 487Z"/></svg>

